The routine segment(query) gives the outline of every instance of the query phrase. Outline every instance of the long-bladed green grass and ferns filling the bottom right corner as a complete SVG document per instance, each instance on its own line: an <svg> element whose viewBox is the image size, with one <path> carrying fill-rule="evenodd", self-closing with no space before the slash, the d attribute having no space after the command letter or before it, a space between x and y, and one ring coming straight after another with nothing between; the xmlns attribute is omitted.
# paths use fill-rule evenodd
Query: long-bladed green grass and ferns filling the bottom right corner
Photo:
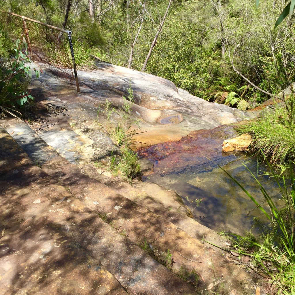
<svg viewBox="0 0 295 295"><path fill-rule="evenodd" d="M273 166L267 161L271 174L276 180L284 201L284 206L279 208L273 201L273 196L260 184L258 178L248 169L254 180L260 186L267 206L263 208L255 196L252 196L235 178L220 167L253 201L255 206L267 217L270 224L262 227L262 233L258 237L250 232L245 237L237 236L237 252L245 254L245 251L253 257L252 265L260 268L272 277L273 284L277 286L278 294L295 294L295 178L293 164L289 158L288 174L277 175ZM291 185L286 183L285 175ZM270 213L268 213L270 211Z"/></svg>

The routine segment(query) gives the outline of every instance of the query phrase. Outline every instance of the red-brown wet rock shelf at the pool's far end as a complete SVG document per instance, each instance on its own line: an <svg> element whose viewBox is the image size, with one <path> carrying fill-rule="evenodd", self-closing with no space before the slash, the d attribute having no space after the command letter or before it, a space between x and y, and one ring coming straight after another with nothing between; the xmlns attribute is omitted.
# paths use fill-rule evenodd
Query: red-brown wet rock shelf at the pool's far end
<svg viewBox="0 0 295 295"><path fill-rule="evenodd" d="M161 176L172 173L189 173L195 170L210 170L216 165L214 161L224 164L235 157L234 154L229 153L223 154L220 158L224 138L237 135L234 127L234 125L221 125L211 130L192 131L181 140L153 145L141 149L138 154L156 163L155 173ZM191 158L194 158L194 161L191 161Z"/></svg>

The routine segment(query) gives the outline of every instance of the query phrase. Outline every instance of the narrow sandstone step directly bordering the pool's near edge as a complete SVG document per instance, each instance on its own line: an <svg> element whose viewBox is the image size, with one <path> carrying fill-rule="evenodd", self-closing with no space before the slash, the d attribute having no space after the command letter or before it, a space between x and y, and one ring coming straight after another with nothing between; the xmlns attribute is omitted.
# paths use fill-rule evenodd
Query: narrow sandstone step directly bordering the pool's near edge
<svg viewBox="0 0 295 295"><path fill-rule="evenodd" d="M191 216L191 210L186 207L181 197L174 191L167 190L152 182L139 182L136 183L136 186L131 186L129 183L105 176L95 168L89 166L83 167L83 172L86 172L89 177L95 178L106 186L109 186L117 194L121 194L136 204L147 207L150 211L180 227L200 242L206 240L226 248L226 239L223 239L209 227L189 217Z"/></svg>

